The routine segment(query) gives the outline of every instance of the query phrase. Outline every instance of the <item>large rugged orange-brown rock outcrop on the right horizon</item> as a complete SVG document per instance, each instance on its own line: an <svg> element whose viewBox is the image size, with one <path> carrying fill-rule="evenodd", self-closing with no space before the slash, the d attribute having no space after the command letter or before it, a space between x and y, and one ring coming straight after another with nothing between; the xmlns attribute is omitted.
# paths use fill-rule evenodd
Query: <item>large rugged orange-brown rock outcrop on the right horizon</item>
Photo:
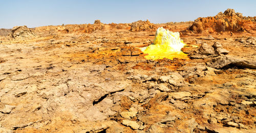
<svg viewBox="0 0 256 133"><path fill-rule="evenodd" d="M236 13L233 9L227 9L214 17L199 17L189 26L188 31L194 33L214 32L249 32L255 29L255 21L252 17L244 17L242 13Z"/></svg>

